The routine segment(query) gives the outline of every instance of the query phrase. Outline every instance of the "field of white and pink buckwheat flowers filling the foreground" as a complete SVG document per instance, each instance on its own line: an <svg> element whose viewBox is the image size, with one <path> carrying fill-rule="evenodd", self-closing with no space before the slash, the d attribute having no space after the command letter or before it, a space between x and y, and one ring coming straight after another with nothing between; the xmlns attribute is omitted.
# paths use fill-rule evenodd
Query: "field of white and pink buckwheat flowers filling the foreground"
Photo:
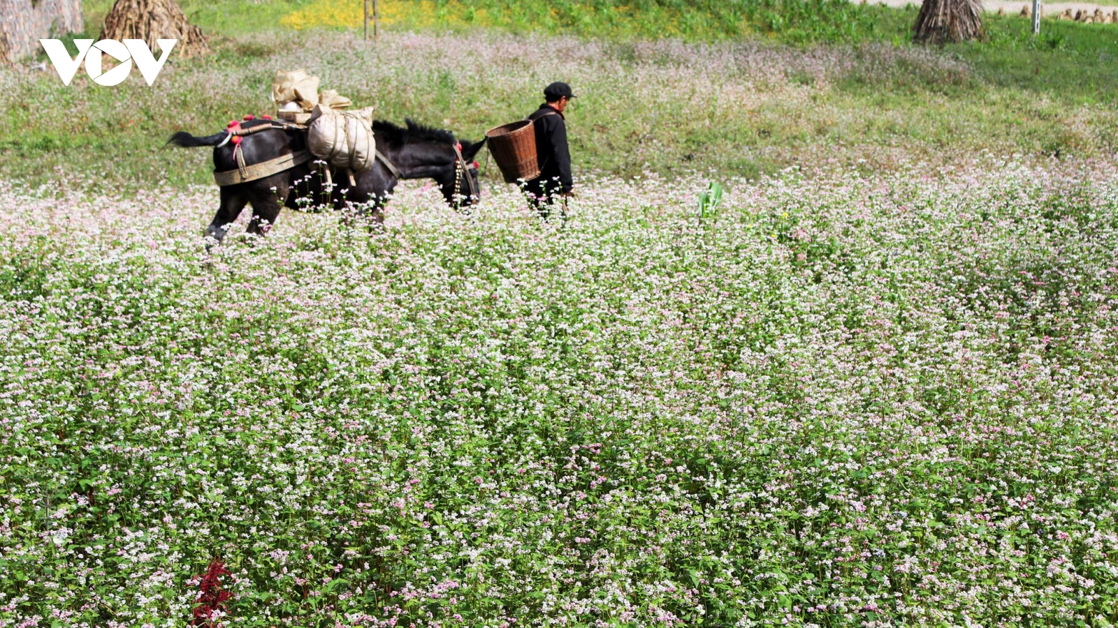
<svg viewBox="0 0 1118 628"><path fill-rule="evenodd" d="M1118 621L1112 164L726 184L0 183L0 626Z"/></svg>

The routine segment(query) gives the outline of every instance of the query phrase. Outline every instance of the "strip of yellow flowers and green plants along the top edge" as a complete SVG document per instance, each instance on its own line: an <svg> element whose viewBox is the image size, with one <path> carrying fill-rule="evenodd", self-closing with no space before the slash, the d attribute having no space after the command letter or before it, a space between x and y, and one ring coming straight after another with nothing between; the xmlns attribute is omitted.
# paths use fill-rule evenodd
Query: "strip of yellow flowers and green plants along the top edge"
<svg viewBox="0 0 1118 628"><path fill-rule="evenodd" d="M360 28L360 0L183 0L193 23L207 32L238 36L277 28ZM110 0L86 0L89 23L101 23ZM748 34L788 41L858 36L872 28L874 12L844 0L381 0L389 28L501 28L514 32L587 37L676 37L719 40Z"/></svg>

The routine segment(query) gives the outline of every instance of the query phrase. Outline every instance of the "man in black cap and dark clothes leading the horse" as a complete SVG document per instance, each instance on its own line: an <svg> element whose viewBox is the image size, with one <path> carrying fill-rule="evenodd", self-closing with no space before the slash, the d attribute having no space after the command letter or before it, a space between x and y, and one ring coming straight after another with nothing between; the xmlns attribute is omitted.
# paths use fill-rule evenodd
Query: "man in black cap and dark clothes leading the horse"
<svg viewBox="0 0 1118 628"><path fill-rule="evenodd" d="M561 199L560 211L567 216L567 198L571 196L570 149L567 146L567 123L563 110L575 94L566 83L552 83L543 88L543 99L531 120L536 130L536 159L540 175L524 183L524 194L540 213L548 218L551 206Z"/></svg>

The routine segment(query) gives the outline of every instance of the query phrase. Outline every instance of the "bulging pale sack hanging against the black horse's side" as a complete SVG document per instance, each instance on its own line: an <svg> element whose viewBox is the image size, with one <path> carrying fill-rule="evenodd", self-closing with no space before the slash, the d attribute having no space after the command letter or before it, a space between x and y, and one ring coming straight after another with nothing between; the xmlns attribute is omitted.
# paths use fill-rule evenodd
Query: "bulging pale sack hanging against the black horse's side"
<svg viewBox="0 0 1118 628"><path fill-rule="evenodd" d="M372 135L372 107L344 112L314 107L306 123L306 148L311 154L334 168L364 172L377 156L377 140Z"/></svg>

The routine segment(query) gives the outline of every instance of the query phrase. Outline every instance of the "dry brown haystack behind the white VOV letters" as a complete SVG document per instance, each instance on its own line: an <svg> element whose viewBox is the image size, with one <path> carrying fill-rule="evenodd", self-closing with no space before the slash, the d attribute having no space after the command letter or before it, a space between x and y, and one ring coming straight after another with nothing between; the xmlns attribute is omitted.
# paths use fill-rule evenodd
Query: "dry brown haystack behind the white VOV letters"
<svg viewBox="0 0 1118 628"><path fill-rule="evenodd" d="M116 0L105 17L101 38L143 39L152 51L157 39L178 39L174 53L183 57L209 53L206 36L187 21L187 15L174 0Z"/></svg>

